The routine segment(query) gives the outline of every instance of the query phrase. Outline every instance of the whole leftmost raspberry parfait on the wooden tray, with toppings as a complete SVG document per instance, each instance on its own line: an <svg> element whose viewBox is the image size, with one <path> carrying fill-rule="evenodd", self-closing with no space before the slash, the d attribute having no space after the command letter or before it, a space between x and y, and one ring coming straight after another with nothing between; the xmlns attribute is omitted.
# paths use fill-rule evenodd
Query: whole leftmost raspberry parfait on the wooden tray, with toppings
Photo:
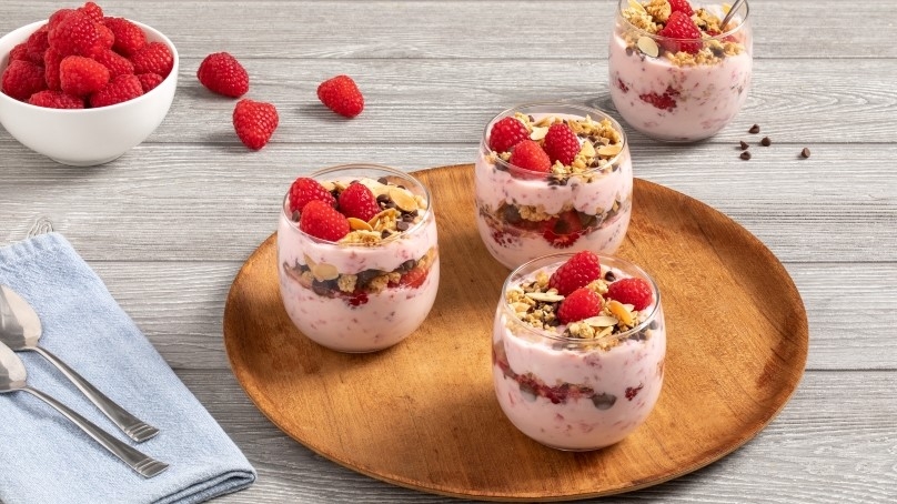
<svg viewBox="0 0 897 504"><path fill-rule="evenodd" d="M430 192L386 167L351 164L298 178L278 226L290 319L332 350L373 352L411 335L440 283Z"/></svg>

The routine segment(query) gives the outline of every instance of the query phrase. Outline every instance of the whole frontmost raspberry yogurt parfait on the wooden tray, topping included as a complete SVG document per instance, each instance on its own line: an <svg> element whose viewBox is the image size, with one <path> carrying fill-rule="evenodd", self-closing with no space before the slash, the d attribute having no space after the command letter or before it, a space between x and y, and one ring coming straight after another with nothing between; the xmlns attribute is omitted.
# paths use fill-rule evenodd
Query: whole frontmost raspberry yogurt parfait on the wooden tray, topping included
<svg viewBox="0 0 897 504"><path fill-rule="evenodd" d="M554 254L504 284L495 395L511 423L546 446L587 451L626 437L657 402L665 355L659 291L629 262Z"/></svg>

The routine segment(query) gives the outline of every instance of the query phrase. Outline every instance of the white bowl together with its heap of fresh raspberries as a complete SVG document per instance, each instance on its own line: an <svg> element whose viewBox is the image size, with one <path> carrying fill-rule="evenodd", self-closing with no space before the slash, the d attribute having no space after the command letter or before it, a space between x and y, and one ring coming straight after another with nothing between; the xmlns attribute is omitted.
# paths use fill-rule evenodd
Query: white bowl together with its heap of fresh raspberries
<svg viewBox="0 0 897 504"><path fill-rule="evenodd" d="M0 124L62 164L107 163L141 143L177 87L171 40L93 2L0 38Z"/></svg>

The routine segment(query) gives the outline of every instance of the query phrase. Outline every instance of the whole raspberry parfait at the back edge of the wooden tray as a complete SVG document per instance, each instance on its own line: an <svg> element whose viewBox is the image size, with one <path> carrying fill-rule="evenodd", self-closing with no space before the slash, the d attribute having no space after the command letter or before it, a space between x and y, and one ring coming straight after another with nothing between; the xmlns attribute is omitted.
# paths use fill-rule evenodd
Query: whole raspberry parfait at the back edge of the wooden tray
<svg viewBox="0 0 897 504"><path fill-rule="evenodd" d="M510 269L560 251L614 253L632 215L626 135L595 109L546 103L495 117L474 174L476 226Z"/></svg>

